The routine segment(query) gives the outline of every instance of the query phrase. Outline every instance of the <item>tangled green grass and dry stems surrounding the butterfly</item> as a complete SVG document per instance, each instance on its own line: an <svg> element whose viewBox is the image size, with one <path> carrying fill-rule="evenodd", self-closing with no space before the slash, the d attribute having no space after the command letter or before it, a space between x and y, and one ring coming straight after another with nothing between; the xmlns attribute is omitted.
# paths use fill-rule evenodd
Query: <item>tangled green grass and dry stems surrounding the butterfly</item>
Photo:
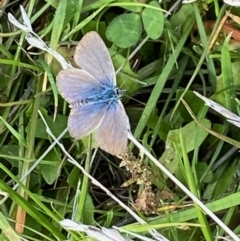
<svg viewBox="0 0 240 241"><path fill-rule="evenodd" d="M1 240L240 240L239 129L193 92L239 115L238 8L2 4ZM91 136L70 137L55 82L92 30L126 90L133 134L121 158L96 149Z"/></svg>

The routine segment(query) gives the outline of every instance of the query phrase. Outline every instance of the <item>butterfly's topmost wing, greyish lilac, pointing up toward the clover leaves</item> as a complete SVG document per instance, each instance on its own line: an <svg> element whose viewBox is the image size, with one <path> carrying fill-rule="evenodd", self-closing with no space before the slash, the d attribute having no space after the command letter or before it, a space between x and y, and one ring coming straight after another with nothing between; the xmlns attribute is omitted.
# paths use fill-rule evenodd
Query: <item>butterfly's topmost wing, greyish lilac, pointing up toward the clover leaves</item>
<svg viewBox="0 0 240 241"><path fill-rule="evenodd" d="M116 85L115 70L108 49L97 32L87 33L76 47L75 63L100 82Z"/></svg>

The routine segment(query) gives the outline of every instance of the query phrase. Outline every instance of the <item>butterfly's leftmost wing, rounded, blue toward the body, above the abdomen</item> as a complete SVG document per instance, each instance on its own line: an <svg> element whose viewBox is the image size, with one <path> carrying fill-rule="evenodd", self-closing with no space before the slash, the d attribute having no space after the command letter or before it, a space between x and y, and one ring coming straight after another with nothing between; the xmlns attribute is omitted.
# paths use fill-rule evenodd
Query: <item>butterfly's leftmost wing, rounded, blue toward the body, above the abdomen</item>
<svg viewBox="0 0 240 241"><path fill-rule="evenodd" d="M57 75L57 87L68 103L95 96L101 92L101 83L81 69L65 69Z"/></svg>

